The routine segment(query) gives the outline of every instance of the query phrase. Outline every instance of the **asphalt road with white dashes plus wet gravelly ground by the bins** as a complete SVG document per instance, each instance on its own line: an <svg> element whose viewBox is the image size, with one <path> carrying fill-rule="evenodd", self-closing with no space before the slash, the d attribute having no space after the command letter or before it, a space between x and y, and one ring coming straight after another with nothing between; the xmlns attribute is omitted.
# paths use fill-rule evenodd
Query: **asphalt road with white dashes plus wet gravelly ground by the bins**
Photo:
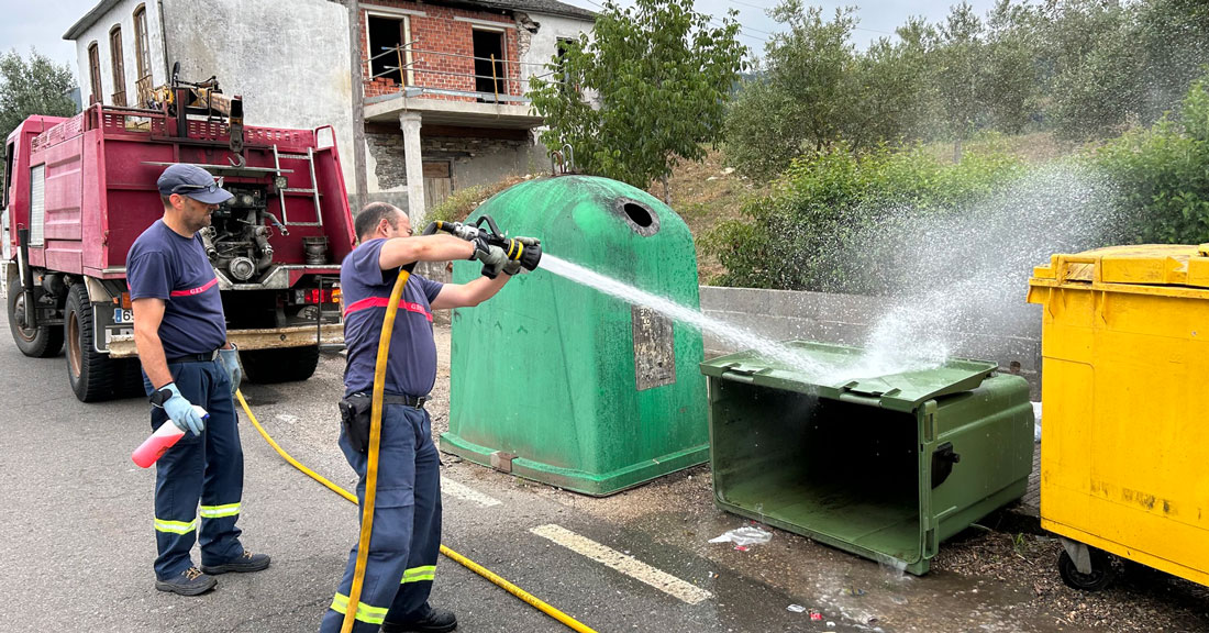
<svg viewBox="0 0 1209 633"><path fill-rule="evenodd" d="M435 432L446 428L447 326L438 342ZM147 405L81 403L64 365L62 355L29 359L0 341L0 631L317 631L357 538L355 506L287 464L241 414L243 542L273 564L224 575L197 598L157 592L155 476L129 458L150 432ZM342 370L341 356L324 356L310 381L243 393L283 448L351 489L336 447ZM1062 588L1039 598L1036 581L1012 571L1022 563L1008 535L947 544L942 553L961 552L958 563L916 579L781 530L747 551L710 544L747 522L713 506L704 465L594 499L444 460L445 545L595 631L1103 631L1043 602L1084 598ZM1029 564L1054 575L1048 547L1045 562ZM962 563L970 554L977 561ZM996 559L1003 564L987 571ZM459 631L569 631L444 557L432 600L457 612ZM1145 600L1147 609L1179 604ZM1191 603L1182 622L1205 604L1198 594Z"/></svg>

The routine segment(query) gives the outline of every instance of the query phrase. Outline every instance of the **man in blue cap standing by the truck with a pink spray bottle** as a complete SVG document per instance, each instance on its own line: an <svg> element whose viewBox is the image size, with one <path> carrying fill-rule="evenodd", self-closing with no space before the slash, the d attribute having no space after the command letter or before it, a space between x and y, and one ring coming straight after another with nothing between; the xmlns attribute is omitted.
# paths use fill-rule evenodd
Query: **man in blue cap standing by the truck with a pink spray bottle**
<svg viewBox="0 0 1209 633"><path fill-rule="evenodd" d="M157 185L163 219L134 240L126 279L143 383L154 405L151 428L173 423L190 432L156 463L155 586L198 596L218 585L214 575L259 571L268 567L268 557L244 550L235 524L243 449L231 395L242 372L226 339L218 278L197 236L232 196L192 164L168 167ZM195 540L202 546L201 569L190 557Z"/></svg>

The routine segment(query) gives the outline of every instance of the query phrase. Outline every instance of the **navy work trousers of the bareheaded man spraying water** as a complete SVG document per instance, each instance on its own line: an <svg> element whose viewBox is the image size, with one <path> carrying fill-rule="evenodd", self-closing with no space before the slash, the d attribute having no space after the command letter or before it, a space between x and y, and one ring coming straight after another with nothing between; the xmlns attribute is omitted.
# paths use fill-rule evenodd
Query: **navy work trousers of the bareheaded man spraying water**
<svg viewBox="0 0 1209 633"><path fill-rule="evenodd" d="M343 430L340 448L360 477L357 484L360 506L365 503L369 455L353 451ZM433 445L428 412L405 405L383 406L374 534L353 626L355 633L376 632L383 620L401 623L427 614L441 545L439 468L440 455ZM320 632L340 631L348 610L348 591L355 568L354 545L348 553L345 577L323 617Z"/></svg>

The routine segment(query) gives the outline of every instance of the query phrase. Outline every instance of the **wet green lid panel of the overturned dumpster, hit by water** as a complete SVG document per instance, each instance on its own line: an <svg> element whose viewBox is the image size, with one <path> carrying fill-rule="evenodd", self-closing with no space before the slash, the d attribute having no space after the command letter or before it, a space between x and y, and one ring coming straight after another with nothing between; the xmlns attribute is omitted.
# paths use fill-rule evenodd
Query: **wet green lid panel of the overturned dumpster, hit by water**
<svg viewBox="0 0 1209 633"><path fill-rule="evenodd" d="M832 400L866 401L893 411L912 412L924 402L970 391L999 370L994 362L949 359L938 367L861 376L864 350L811 341L788 341L786 348L826 367L823 374L796 370L758 352L739 352L701 364L701 373L759 387L785 389ZM856 372L856 373L854 373ZM848 396L848 397L843 397ZM855 397L854 397L855 396Z"/></svg>

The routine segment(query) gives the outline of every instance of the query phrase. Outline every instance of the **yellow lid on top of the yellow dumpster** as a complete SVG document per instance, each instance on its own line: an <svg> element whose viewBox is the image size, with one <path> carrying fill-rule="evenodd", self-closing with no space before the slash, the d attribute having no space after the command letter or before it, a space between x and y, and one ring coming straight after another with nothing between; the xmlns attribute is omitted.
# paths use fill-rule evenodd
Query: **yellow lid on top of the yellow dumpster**
<svg viewBox="0 0 1209 633"><path fill-rule="evenodd" d="M1035 279L1209 288L1209 244L1136 244L1052 255Z"/></svg>

